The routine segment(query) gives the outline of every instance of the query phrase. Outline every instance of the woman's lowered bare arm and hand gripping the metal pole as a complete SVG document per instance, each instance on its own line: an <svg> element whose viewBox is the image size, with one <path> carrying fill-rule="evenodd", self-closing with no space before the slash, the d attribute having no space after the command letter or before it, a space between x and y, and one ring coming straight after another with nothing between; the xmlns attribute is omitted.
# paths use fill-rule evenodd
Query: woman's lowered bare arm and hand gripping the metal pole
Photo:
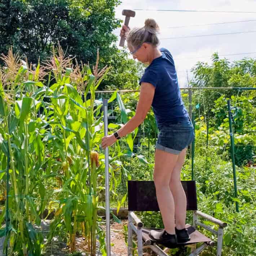
<svg viewBox="0 0 256 256"><path fill-rule="evenodd" d="M141 83L140 98L137 104L135 115L118 130L120 137L126 136L138 127L147 116L155 94L155 87L150 83ZM102 138L102 147L112 145L116 141L114 134Z"/></svg>

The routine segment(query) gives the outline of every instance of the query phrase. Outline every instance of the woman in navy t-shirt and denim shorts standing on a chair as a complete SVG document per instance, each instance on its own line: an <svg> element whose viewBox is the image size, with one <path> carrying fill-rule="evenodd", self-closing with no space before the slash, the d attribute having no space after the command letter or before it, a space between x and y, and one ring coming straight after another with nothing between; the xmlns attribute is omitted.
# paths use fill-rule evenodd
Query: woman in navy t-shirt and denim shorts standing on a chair
<svg viewBox="0 0 256 256"><path fill-rule="evenodd" d="M126 26L121 36L129 31ZM127 44L134 59L148 63L140 80L141 90L136 114L114 134L102 138L102 147L126 136L145 119L151 105L159 128L155 146L154 184L164 230L150 231L150 237L162 243L190 240L185 229L186 195L180 181L186 150L194 132L182 102L174 61L167 49L157 48L159 27L154 19L128 32Z"/></svg>

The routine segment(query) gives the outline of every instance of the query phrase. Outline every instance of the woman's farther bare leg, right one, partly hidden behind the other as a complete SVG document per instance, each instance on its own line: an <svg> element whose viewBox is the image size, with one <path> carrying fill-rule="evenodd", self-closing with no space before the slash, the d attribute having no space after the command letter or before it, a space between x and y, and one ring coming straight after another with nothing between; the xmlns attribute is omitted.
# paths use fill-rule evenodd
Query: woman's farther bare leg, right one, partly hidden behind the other
<svg viewBox="0 0 256 256"><path fill-rule="evenodd" d="M178 160L173 170L172 167L169 168L169 170L172 170L169 187L172 192L175 204L175 225L177 229L184 229L186 221L187 199L180 181L180 172L182 165L184 164L186 150L187 149L182 150L178 155Z"/></svg>

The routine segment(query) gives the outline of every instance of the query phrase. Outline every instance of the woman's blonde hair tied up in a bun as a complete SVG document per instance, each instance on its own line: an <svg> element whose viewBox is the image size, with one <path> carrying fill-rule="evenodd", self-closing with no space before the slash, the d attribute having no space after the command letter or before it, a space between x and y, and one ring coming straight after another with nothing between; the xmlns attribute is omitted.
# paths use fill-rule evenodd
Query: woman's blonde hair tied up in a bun
<svg viewBox="0 0 256 256"><path fill-rule="evenodd" d="M146 19L145 26L142 28L132 28L127 35L127 43L134 48L139 47L143 43L150 43L154 47L159 45L159 26L154 19Z"/></svg>

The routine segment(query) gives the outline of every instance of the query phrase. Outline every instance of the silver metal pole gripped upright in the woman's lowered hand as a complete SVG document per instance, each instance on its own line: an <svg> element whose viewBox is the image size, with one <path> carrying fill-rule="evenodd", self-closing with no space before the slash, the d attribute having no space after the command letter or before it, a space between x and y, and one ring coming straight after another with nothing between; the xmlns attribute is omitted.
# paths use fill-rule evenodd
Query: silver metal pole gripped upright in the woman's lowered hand
<svg viewBox="0 0 256 256"><path fill-rule="evenodd" d="M107 99L103 99L103 113L104 113L104 136L108 133L107 120ZM105 149L105 197L106 197L106 248L107 256L111 254L110 248L110 206L109 206L109 147Z"/></svg>

